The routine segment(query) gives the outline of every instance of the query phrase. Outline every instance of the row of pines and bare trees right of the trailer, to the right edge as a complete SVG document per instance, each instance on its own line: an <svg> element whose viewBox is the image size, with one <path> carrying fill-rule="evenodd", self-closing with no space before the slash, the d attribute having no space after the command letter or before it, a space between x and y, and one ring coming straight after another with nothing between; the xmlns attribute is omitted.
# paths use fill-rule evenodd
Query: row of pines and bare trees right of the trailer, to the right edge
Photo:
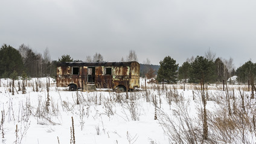
<svg viewBox="0 0 256 144"><path fill-rule="evenodd" d="M248 61L237 70L234 69L233 59L215 58L215 54L208 50L205 56L193 56L188 58L181 67L176 60L166 56L160 63L156 80L159 83L201 83L202 79L207 83L226 82L229 77L237 76L237 82L246 83L248 80L254 83L256 76L256 64Z"/></svg>

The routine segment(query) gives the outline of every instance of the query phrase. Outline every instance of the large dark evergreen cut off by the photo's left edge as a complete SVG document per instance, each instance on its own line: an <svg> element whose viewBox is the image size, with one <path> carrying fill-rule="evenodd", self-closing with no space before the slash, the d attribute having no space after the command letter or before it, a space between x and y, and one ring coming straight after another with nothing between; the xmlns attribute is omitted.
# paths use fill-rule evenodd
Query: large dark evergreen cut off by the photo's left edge
<svg viewBox="0 0 256 144"><path fill-rule="evenodd" d="M16 70L17 73L21 73L24 66L22 63L22 57L18 50L14 49L10 45L4 44L0 49L0 76L10 76L11 71Z"/></svg>

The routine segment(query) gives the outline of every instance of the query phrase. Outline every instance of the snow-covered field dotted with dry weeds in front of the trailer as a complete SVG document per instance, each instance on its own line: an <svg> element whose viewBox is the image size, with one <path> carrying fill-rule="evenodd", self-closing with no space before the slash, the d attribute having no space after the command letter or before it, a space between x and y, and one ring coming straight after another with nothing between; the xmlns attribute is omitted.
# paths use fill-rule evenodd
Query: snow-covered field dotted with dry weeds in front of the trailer
<svg viewBox="0 0 256 144"><path fill-rule="evenodd" d="M185 85L184 91L182 84L164 85L164 89L147 84L146 90L141 79L136 92L71 92L56 88L50 79L47 112L46 78L39 79L38 92L36 80L28 81L26 94L14 89L12 95L7 85L10 80L1 79L2 143L256 142L255 101L248 86L228 85L228 92L222 85L206 87L208 140L203 140L199 85ZM15 86L18 90L18 80Z"/></svg>

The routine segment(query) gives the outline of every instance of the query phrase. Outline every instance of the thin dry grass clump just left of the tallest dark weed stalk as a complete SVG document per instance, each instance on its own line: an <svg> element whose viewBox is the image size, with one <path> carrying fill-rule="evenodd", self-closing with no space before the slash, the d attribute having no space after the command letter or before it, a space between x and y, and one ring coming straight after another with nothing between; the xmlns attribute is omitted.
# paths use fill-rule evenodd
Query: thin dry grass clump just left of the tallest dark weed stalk
<svg viewBox="0 0 256 144"><path fill-rule="evenodd" d="M176 110L169 115L158 108L158 121L170 143L201 143L202 130L195 124L194 119L188 115L188 105L184 97L178 97Z"/></svg>

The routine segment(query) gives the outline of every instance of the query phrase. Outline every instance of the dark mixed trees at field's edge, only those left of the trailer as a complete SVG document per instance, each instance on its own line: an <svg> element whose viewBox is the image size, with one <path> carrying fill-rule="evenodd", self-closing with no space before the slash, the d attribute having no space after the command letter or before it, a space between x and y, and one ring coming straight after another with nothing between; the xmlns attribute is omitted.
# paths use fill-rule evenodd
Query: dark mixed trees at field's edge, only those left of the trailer
<svg viewBox="0 0 256 144"><path fill-rule="evenodd" d="M0 77L10 77L11 73L22 73L29 77L46 77L56 75L57 61L51 61L48 48L43 55L36 53L29 46L21 44L19 49L3 44L0 49Z"/></svg>

